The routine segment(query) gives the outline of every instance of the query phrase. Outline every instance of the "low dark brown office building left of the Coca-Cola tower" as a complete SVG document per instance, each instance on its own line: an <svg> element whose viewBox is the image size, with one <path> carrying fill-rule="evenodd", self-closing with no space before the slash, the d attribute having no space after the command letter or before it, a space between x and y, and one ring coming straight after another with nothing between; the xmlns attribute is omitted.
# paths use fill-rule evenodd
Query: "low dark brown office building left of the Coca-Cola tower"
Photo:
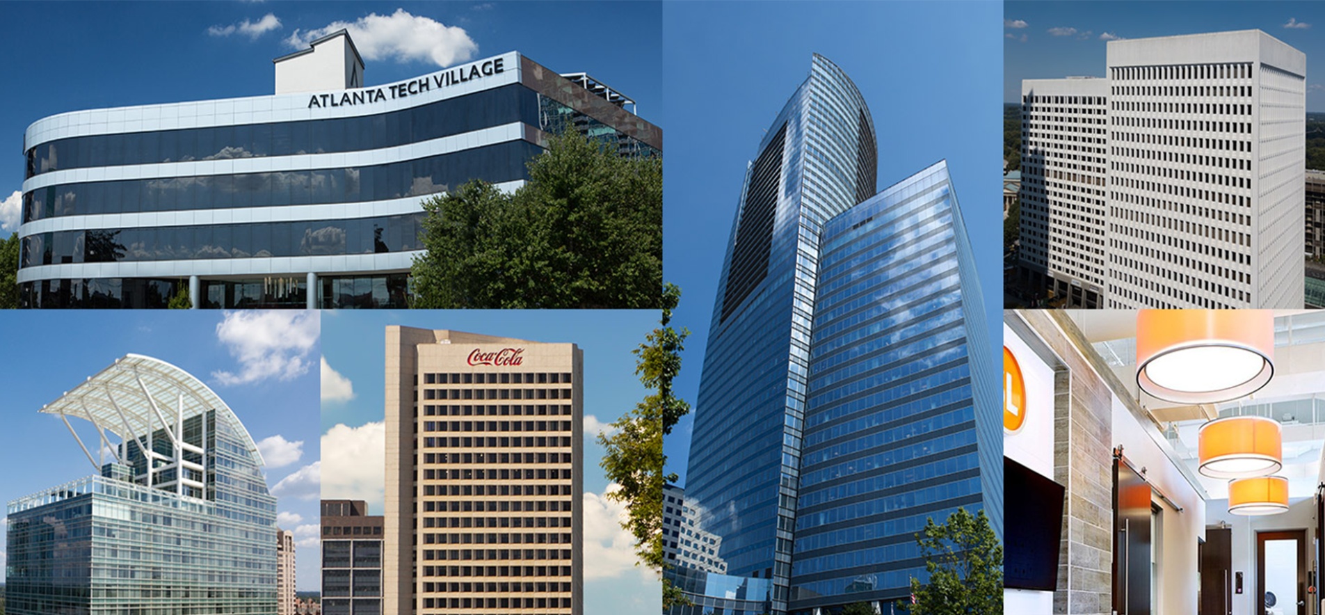
<svg viewBox="0 0 1325 615"><path fill-rule="evenodd" d="M322 500L322 608L382 615L382 516L363 500Z"/></svg>

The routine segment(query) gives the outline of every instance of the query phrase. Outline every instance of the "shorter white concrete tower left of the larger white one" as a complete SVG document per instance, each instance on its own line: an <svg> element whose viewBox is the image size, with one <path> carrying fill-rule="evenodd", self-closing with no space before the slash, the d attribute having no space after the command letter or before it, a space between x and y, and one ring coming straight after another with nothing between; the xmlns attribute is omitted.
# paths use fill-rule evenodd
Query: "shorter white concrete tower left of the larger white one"
<svg viewBox="0 0 1325 615"><path fill-rule="evenodd" d="M1102 308L1109 81L1022 81L1022 262L1073 308Z"/></svg>

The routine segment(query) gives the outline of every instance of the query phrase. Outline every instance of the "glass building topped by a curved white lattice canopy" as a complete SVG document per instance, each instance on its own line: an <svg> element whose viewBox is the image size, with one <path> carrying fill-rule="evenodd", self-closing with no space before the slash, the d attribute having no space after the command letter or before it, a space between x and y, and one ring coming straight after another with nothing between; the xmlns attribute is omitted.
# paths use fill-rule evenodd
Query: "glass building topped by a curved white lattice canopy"
<svg viewBox="0 0 1325 615"><path fill-rule="evenodd" d="M41 412L90 421L111 459L80 439L99 476L8 504L7 612L277 612L276 498L211 388L130 354Z"/></svg>

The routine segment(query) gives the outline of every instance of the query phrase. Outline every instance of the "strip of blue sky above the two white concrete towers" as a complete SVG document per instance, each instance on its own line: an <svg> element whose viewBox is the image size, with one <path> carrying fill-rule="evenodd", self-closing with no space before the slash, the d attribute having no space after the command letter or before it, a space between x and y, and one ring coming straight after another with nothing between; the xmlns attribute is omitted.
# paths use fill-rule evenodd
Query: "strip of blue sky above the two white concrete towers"
<svg viewBox="0 0 1325 615"><path fill-rule="evenodd" d="M1104 77L1109 37L1146 38L1260 29L1306 54L1306 110L1325 111L1325 4L1301 1L1008 1L1003 4L1003 101L1022 98L1022 80ZM1024 40L1023 40L1024 37Z"/></svg>

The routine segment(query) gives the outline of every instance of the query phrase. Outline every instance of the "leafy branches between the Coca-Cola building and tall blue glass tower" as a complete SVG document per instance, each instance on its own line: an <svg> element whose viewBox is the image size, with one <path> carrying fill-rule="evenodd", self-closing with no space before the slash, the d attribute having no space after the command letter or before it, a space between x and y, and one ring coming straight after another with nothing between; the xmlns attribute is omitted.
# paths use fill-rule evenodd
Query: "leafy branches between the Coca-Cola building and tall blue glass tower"
<svg viewBox="0 0 1325 615"><path fill-rule="evenodd" d="M666 456L662 455L662 435L690 411L690 406L676 396L672 380L681 371L681 351L688 330L670 327L672 310L681 300L681 289L673 284L662 288L662 318L635 349L635 374L645 387L655 391L645 396L625 416L612 423L611 435L600 433L599 444L607 449L600 465L607 478L620 489L607 497L627 505L627 520L621 528L635 535L635 553L640 562L656 573L662 571L662 485L674 481L676 475L662 475ZM662 607L684 604L680 590L664 579Z"/></svg>

